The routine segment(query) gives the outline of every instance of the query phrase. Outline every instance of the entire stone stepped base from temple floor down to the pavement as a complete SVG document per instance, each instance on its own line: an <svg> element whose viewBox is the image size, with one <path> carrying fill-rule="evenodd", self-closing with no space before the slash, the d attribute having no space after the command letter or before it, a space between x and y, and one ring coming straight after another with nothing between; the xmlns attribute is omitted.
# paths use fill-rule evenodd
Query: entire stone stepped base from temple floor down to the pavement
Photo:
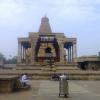
<svg viewBox="0 0 100 100"><path fill-rule="evenodd" d="M82 71L76 64L55 64L51 70L50 66L34 65L18 65L11 69L0 69L0 76L2 75L20 75L28 73L30 79L47 80L55 74L67 74L71 80L100 80L100 71Z"/></svg>

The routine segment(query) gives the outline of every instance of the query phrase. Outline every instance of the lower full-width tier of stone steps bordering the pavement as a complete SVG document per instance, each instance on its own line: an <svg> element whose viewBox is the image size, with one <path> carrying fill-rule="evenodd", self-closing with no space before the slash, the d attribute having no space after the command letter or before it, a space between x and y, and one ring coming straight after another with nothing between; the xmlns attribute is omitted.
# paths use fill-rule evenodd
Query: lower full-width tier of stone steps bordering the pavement
<svg viewBox="0 0 100 100"><path fill-rule="evenodd" d="M100 71L81 71L81 70L65 70L65 71L36 71L36 70L0 70L0 76L4 75L20 75L28 73L30 79L35 80L48 80L55 74L67 74L70 80L100 80Z"/></svg>

